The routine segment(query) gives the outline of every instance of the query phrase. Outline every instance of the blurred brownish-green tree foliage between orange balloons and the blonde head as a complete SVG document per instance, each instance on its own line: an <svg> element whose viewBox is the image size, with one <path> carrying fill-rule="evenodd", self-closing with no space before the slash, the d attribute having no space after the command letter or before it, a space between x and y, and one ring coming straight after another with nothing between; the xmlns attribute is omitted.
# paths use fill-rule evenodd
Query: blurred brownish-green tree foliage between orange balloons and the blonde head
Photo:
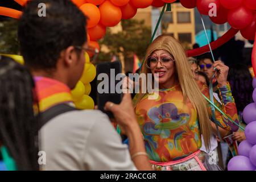
<svg viewBox="0 0 256 182"><path fill-rule="evenodd" d="M143 59L150 39L151 27L146 26L144 20L122 20L122 31L114 34L108 29L104 39L100 41L101 45L108 47L109 52L101 52L99 61L105 61L106 57L119 55L119 53L122 53L125 61L129 61L134 53L139 59Z"/></svg>

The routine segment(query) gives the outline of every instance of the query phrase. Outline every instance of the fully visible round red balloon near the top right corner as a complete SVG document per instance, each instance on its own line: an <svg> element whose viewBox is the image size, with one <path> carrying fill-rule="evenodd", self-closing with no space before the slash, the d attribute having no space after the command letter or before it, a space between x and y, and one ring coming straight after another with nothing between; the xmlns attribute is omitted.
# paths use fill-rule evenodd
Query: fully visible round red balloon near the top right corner
<svg viewBox="0 0 256 182"><path fill-rule="evenodd" d="M253 11L246 7L238 7L237 9L229 10L228 22L230 26L237 29L247 27L253 20Z"/></svg>

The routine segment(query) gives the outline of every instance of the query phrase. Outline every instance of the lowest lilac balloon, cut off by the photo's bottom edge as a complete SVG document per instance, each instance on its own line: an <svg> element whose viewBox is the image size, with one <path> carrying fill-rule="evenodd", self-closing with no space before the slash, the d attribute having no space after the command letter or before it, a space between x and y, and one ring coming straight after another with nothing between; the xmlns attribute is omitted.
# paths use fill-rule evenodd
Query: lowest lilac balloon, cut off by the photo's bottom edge
<svg viewBox="0 0 256 182"><path fill-rule="evenodd" d="M241 155L234 156L228 163L228 171L254 171L255 169L250 159Z"/></svg>

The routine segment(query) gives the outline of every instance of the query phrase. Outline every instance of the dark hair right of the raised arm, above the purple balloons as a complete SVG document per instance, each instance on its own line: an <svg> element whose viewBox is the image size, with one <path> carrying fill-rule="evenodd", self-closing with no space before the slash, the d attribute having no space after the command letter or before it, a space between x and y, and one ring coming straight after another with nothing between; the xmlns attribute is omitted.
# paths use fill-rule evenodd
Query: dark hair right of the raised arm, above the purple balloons
<svg viewBox="0 0 256 182"><path fill-rule="evenodd" d="M253 78L245 64L234 64L229 69L228 81L237 110L243 111L246 105L253 102Z"/></svg>

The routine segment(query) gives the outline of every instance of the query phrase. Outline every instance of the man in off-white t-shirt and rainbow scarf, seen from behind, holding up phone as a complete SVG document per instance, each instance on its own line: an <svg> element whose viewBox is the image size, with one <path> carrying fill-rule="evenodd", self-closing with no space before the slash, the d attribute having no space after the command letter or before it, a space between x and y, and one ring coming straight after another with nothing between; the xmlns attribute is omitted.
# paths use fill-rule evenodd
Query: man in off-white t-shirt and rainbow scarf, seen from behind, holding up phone
<svg viewBox="0 0 256 182"><path fill-rule="evenodd" d="M46 16L38 16L38 4ZM70 0L34 0L24 7L18 38L25 64L36 82L40 111L40 150L45 170L150 170L143 137L129 94L121 104L108 102L130 147L99 110L76 110L71 89L84 64L86 18Z"/></svg>

